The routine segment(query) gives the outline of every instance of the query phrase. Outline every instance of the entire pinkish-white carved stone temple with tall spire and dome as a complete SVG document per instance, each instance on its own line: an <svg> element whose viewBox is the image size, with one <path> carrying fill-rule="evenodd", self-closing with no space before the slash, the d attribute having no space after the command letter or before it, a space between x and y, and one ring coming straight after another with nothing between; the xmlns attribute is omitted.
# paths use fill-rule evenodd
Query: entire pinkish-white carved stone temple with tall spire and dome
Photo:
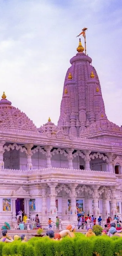
<svg viewBox="0 0 122 256"><path fill-rule="evenodd" d="M64 80L58 125L36 128L6 98L0 100L0 223L18 211L62 227L77 214L122 214L122 128L105 114L92 59L79 41ZM35 109L36 111L36 109ZM53 118L52 118L53 119Z"/></svg>

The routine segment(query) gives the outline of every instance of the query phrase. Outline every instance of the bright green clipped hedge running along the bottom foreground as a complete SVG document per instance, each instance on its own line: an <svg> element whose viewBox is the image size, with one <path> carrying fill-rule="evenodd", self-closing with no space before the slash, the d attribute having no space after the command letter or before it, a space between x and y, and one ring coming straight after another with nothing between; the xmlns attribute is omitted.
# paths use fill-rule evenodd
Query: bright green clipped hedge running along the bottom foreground
<svg viewBox="0 0 122 256"><path fill-rule="evenodd" d="M122 238L118 236L85 237L78 233L74 238L60 241L48 237L34 237L27 243L15 241L0 243L0 256L120 256Z"/></svg>

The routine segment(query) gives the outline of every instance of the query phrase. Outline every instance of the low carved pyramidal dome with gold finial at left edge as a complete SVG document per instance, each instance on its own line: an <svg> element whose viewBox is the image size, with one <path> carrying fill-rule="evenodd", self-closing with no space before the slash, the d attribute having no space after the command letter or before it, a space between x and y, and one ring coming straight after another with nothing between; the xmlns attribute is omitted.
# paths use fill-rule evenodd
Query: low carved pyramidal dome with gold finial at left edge
<svg viewBox="0 0 122 256"><path fill-rule="evenodd" d="M12 103L6 99L5 92L0 100L0 129L21 129L36 131L37 128L25 113L12 106Z"/></svg>

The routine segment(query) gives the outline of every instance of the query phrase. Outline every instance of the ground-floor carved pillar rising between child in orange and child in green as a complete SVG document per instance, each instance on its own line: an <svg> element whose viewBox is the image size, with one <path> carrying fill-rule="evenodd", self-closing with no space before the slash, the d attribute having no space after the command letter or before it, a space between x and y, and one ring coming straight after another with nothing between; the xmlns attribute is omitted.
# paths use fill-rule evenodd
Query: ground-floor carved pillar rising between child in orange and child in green
<svg viewBox="0 0 122 256"><path fill-rule="evenodd" d="M56 216L57 216L57 208L56 208L56 204L55 204L55 197L56 197L56 193L55 193L55 187L58 185L58 183L48 183L48 186L51 189L51 193L50 193L50 218L56 222Z"/></svg>

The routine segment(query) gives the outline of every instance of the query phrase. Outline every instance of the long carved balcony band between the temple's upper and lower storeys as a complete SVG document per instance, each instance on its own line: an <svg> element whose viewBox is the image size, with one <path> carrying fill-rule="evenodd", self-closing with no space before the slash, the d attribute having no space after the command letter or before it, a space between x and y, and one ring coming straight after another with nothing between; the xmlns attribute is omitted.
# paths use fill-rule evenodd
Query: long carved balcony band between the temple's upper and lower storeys
<svg viewBox="0 0 122 256"><path fill-rule="evenodd" d="M45 182L77 182L86 185L116 185L116 175L112 171L94 171L69 168L43 168L28 170L3 169L0 183L36 185Z"/></svg>

